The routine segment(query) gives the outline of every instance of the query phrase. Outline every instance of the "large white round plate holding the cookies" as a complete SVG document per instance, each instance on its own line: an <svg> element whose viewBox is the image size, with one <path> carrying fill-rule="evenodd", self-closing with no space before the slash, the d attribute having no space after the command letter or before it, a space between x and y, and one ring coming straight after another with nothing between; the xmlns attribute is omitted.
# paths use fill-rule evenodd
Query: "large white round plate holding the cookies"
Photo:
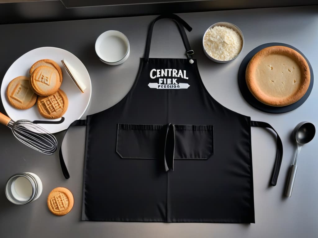
<svg viewBox="0 0 318 238"><path fill-rule="evenodd" d="M82 76L82 81L86 85L84 93L79 90L79 88L73 82L72 78L66 72L64 66L61 63L61 60L64 58L67 59L67 61L72 64L72 66L78 71L79 75ZM63 73L61 89L66 93L66 96L68 98L68 108L66 113L63 115L65 121L61 124L39 124L50 133L56 133L67 129L73 121L81 118L81 116L87 109L92 95L92 84L88 71L85 65L79 60L79 58L74 56L72 53L68 52L67 50L55 47L41 47L25 53L10 66L10 68L4 75L1 84L1 100L6 113L13 121L21 119L29 121L60 120L44 118L38 112L38 108L36 105L26 110L16 109L9 104L5 96L5 91L10 81L17 76L29 76L29 70L32 64L41 59L54 60L56 63L59 64Z"/></svg>

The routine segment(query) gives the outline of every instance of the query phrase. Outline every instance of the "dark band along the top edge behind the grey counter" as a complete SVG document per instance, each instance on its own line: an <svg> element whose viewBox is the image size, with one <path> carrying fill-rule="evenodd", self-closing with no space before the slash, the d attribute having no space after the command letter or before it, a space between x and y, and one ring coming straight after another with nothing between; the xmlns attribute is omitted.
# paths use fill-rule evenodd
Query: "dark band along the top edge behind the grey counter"
<svg viewBox="0 0 318 238"><path fill-rule="evenodd" d="M0 24L316 4L317 0L0 0Z"/></svg>

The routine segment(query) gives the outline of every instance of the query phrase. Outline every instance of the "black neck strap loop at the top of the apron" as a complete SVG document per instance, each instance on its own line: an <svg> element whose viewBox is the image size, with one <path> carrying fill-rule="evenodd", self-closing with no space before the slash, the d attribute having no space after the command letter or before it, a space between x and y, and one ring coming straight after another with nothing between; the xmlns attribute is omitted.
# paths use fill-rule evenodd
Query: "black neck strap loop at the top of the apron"
<svg viewBox="0 0 318 238"><path fill-rule="evenodd" d="M183 27L185 27L188 31L191 31L192 28L189 26L188 23L186 23L182 18L180 18L179 16L175 15L175 14L167 14L167 15L161 15L159 17L157 17L155 20L153 20L149 26L149 30L148 30L148 36L147 36L147 43L146 43L146 51L145 51L145 56L144 56L144 60L146 62L148 62L149 60L149 53L150 53L150 44L151 44L151 36L152 36L152 31L154 28L154 25L156 23L156 21L162 19L162 18L170 18L176 21L179 32L181 34L181 38L183 40L183 44L186 50L186 54L188 56L189 59L192 58L192 55L194 54L194 51L191 50L190 47L190 43L188 40L188 37L185 33L185 30Z"/></svg>

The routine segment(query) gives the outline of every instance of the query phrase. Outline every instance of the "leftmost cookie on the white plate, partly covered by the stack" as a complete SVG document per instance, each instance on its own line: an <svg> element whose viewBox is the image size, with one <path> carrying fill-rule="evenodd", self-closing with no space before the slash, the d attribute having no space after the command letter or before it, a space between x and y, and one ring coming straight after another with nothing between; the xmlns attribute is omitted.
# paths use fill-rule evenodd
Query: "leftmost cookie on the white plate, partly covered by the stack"
<svg viewBox="0 0 318 238"><path fill-rule="evenodd" d="M29 77L18 76L8 84L6 97L14 108L28 109L35 104L38 95L31 89Z"/></svg>

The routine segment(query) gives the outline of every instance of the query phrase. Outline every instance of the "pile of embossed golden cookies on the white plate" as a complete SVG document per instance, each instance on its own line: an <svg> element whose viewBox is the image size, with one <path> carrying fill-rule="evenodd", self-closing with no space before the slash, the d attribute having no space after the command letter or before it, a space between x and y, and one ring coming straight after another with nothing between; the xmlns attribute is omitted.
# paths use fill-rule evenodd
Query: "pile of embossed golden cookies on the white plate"
<svg viewBox="0 0 318 238"><path fill-rule="evenodd" d="M64 115L68 106L66 94L59 89L63 75L59 65L42 59L30 68L30 77L13 79L6 90L9 103L17 109L28 109L37 103L41 116L49 119Z"/></svg>

